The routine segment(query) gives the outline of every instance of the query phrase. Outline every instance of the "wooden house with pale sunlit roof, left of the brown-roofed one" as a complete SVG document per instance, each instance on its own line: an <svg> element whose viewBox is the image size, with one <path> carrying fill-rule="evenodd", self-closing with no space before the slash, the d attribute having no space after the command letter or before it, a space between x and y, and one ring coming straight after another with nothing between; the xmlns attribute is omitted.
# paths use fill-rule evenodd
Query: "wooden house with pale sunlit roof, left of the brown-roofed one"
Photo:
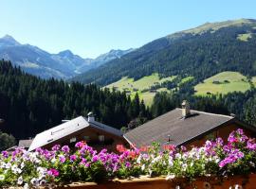
<svg viewBox="0 0 256 189"><path fill-rule="evenodd" d="M79 141L85 141L88 146L93 146L97 150L107 148L111 151L115 151L117 145L127 144L119 129L95 121L90 113L87 118L79 116L37 134L28 151L38 147L51 148L57 144L72 147Z"/></svg>

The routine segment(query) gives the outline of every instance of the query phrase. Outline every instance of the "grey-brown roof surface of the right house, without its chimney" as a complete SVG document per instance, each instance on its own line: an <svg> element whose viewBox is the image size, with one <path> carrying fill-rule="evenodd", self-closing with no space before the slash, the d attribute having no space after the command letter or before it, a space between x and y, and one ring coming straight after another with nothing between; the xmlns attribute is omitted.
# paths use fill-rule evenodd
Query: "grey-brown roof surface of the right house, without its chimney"
<svg viewBox="0 0 256 189"><path fill-rule="evenodd" d="M124 137L136 146L148 146L153 142L167 144L169 138L171 144L180 146L234 119L228 115L198 111L191 111L189 117L183 118L181 109L174 109L128 131Z"/></svg>

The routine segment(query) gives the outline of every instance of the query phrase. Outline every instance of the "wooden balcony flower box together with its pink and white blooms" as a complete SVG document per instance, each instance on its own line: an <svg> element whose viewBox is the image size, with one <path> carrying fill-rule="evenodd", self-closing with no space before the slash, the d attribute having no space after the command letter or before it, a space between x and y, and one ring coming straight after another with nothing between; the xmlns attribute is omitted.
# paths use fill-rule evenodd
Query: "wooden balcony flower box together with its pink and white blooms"
<svg viewBox="0 0 256 189"><path fill-rule="evenodd" d="M11 154L3 151L0 188L256 188L256 142L242 129L230 133L227 145L218 138L190 150L159 144L117 148L119 153L97 151L79 142L75 151L58 145L34 152L23 148Z"/></svg>

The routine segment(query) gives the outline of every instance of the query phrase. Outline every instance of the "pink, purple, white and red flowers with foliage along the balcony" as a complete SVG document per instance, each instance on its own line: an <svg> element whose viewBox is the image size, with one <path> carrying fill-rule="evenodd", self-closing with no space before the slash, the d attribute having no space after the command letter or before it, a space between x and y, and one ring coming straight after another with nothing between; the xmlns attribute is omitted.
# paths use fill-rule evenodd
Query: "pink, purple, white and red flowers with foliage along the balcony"
<svg viewBox="0 0 256 189"><path fill-rule="evenodd" d="M204 146L172 145L126 148L117 146L119 153L102 149L97 152L84 142L75 150L68 146L38 148L27 152L16 148L0 155L0 187L38 187L72 181L102 181L139 175L187 178L229 176L256 172L256 143L242 129L229 135L227 144L218 138Z"/></svg>

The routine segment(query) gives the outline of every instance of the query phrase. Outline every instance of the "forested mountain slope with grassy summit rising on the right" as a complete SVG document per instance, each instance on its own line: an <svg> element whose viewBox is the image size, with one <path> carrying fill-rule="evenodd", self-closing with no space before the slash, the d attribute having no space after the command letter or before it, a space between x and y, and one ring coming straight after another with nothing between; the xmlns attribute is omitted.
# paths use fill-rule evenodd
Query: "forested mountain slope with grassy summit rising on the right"
<svg viewBox="0 0 256 189"><path fill-rule="evenodd" d="M256 20L206 23L176 32L74 77L101 86L122 77L193 77L194 84L224 71L256 76Z"/></svg>

